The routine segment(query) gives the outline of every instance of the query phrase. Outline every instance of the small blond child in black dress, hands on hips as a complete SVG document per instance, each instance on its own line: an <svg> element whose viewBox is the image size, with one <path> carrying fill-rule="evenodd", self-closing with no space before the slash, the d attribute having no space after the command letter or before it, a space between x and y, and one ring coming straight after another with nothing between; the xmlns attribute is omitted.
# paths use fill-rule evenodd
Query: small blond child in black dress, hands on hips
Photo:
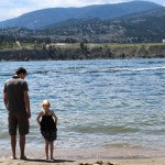
<svg viewBox="0 0 165 165"><path fill-rule="evenodd" d="M42 111L38 113L36 121L41 127L41 133L45 139L45 154L46 160L48 160L48 145L51 151L51 160L54 160L53 157L53 151L54 151L54 141L57 138L57 117L54 113L54 111L50 110L51 102L48 100L43 100L42 102Z"/></svg>

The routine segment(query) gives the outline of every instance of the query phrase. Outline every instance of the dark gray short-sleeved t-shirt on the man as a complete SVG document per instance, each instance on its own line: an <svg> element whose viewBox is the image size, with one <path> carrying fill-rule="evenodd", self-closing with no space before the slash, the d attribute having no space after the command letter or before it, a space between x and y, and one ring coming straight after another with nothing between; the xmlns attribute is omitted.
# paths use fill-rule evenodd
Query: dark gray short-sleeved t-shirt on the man
<svg viewBox="0 0 165 165"><path fill-rule="evenodd" d="M25 113L26 107L24 102L24 91L28 91L29 87L24 79L18 76L13 76L4 84L3 92L7 92L8 103L7 109L9 112Z"/></svg>

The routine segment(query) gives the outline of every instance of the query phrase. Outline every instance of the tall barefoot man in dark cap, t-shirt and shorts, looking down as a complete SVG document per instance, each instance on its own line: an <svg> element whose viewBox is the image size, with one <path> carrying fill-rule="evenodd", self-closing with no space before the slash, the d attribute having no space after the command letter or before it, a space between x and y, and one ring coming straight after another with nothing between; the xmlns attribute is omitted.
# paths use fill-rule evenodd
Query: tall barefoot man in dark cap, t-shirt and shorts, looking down
<svg viewBox="0 0 165 165"><path fill-rule="evenodd" d="M24 154L25 134L29 133L29 119L31 118L29 87L24 80L28 75L23 67L19 67L15 75L6 81L3 101L9 111L9 134L11 136L12 158L15 160L16 129L20 134L20 158L26 160Z"/></svg>

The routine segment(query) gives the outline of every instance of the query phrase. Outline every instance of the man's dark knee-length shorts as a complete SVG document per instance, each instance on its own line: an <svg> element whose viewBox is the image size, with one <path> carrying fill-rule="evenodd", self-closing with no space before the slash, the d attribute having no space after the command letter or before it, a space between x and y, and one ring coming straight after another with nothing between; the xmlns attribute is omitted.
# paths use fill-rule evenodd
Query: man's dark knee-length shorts
<svg viewBox="0 0 165 165"><path fill-rule="evenodd" d="M18 113L11 113L9 112L9 134L10 135L16 135L16 128L19 128L19 134L25 135L29 133L30 124L28 114L18 114Z"/></svg>

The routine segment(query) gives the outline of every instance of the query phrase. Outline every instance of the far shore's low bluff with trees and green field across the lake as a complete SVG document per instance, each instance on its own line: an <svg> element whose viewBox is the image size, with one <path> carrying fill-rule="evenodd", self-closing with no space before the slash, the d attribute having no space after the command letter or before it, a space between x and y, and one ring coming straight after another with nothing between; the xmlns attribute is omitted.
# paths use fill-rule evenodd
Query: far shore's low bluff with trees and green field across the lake
<svg viewBox="0 0 165 165"><path fill-rule="evenodd" d="M0 61L164 58L165 44L47 44L44 48L1 50Z"/></svg>

